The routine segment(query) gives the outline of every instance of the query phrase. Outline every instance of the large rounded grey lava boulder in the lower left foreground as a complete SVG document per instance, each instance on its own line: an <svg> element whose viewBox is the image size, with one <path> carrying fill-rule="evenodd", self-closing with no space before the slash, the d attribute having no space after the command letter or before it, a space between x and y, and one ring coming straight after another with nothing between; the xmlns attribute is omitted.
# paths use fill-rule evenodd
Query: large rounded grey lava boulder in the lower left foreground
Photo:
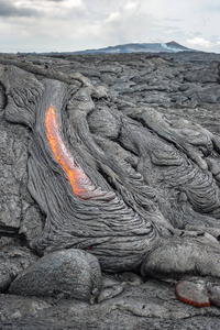
<svg viewBox="0 0 220 330"><path fill-rule="evenodd" d="M94 301L101 284L96 256L69 249L50 253L28 267L14 279L9 293Z"/></svg>

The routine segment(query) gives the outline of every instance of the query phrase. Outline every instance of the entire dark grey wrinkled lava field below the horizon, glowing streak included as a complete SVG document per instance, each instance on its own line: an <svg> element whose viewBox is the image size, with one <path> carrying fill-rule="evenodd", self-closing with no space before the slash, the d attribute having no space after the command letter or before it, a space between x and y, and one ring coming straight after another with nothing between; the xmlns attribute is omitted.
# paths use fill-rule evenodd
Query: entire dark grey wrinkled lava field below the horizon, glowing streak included
<svg viewBox="0 0 220 330"><path fill-rule="evenodd" d="M2 329L219 329L219 103L216 54L0 55Z"/></svg>

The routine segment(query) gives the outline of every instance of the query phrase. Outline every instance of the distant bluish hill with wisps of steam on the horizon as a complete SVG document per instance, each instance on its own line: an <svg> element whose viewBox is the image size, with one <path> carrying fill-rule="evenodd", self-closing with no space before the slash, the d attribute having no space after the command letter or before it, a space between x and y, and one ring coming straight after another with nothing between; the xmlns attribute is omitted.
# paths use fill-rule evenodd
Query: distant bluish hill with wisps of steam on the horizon
<svg viewBox="0 0 220 330"><path fill-rule="evenodd" d="M50 54L78 55L78 54L122 54L122 53L161 53L161 52L177 53L177 52L195 52L195 51L182 46L178 43L172 41L168 43L144 43L144 44L132 43L125 45L109 46L106 48L98 48L98 50L62 52L62 53L57 52L57 53L50 53Z"/></svg>

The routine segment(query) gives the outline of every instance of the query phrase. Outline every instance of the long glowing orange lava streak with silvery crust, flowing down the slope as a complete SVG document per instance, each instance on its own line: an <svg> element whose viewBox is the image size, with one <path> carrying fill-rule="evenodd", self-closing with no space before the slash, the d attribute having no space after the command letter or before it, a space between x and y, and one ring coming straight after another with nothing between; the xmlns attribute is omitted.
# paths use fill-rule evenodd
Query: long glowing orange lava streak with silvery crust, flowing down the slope
<svg viewBox="0 0 220 330"><path fill-rule="evenodd" d="M53 154L58 164L63 167L73 187L74 194L82 199L97 197L97 195L103 196L105 193L95 187L64 144L56 119L56 112L53 107L50 107L46 112L45 128L46 136Z"/></svg>

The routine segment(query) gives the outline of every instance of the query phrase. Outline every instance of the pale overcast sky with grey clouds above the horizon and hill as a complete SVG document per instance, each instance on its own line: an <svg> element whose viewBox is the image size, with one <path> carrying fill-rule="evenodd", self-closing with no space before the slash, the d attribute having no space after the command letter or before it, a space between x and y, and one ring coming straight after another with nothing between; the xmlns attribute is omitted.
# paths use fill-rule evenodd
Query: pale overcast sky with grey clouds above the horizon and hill
<svg viewBox="0 0 220 330"><path fill-rule="evenodd" d="M220 53L220 0L0 0L0 52L166 43Z"/></svg>

